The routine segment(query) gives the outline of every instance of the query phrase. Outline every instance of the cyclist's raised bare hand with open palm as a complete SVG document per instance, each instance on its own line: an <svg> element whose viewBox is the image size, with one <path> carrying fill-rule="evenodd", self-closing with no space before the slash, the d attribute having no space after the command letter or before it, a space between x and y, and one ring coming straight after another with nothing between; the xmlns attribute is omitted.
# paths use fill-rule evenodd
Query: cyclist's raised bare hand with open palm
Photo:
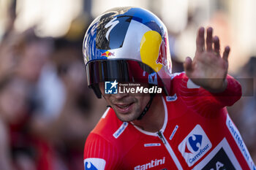
<svg viewBox="0 0 256 170"><path fill-rule="evenodd" d="M200 85L212 93L219 93L227 87L227 58L230 47L225 47L221 56L219 54L219 37L212 36L213 28L207 29L206 41L204 32L203 27L198 29L195 58L192 61L187 57L184 69L189 79L196 85Z"/></svg>

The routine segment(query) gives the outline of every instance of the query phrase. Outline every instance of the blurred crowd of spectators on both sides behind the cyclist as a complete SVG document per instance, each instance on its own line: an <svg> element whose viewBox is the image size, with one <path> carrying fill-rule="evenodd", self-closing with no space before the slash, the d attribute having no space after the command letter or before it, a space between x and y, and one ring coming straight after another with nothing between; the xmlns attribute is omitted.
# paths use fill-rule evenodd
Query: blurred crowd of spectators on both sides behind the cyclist
<svg viewBox="0 0 256 170"><path fill-rule="evenodd" d="M10 12L12 14L12 12ZM83 147L106 109L86 82L83 31L75 39L39 37L35 28L13 29L0 42L0 169L83 169ZM175 42L170 33L170 45ZM183 65L173 57L173 72ZM256 57L233 77L244 96L228 108L256 161Z"/></svg>

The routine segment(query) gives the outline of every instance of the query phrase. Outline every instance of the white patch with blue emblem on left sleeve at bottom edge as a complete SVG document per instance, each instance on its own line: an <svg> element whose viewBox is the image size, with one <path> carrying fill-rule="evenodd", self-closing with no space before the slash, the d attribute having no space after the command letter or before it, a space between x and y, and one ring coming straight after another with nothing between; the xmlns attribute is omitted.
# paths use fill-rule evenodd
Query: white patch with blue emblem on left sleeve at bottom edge
<svg viewBox="0 0 256 170"><path fill-rule="evenodd" d="M86 158L84 161L85 170L104 170L106 161L101 158Z"/></svg>

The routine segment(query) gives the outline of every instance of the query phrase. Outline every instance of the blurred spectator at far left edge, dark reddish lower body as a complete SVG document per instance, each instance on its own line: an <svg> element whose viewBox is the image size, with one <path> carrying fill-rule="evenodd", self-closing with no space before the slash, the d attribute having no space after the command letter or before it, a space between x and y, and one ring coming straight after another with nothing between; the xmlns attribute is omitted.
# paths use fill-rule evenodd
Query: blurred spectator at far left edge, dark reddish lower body
<svg viewBox="0 0 256 170"><path fill-rule="evenodd" d="M0 169L36 169L25 125L29 116L28 90L19 77L7 75L0 82Z"/></svg>

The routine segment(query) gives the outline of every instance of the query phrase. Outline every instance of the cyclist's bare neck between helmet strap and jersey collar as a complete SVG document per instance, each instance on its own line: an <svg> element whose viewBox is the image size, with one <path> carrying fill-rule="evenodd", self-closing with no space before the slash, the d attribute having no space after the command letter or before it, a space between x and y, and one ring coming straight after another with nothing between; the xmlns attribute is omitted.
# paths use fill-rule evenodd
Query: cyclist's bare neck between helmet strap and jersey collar
<svg viewBox="0 0 256 170"><path fill-rule="evenodd" d="M155 96L146 115L141 120L133 120L132 123L144 131L159 131L165 122L165 108L162 102L162 96Z"/></svg>

